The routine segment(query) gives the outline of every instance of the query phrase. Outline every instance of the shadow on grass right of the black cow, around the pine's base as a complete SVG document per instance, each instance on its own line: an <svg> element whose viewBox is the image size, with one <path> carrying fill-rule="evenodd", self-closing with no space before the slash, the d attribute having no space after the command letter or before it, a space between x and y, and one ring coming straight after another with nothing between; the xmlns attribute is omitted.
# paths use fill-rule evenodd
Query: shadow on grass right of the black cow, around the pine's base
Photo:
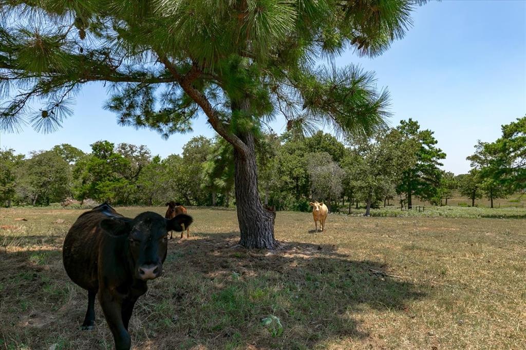
<svg viewBox="0 0 526 350"><path fill-rule="evenodd" d="M173 332L157 332L163 335L149 343L159 348L360 341L369 337L358 321L363 314L404 313L425 296L418 285L378 273L388 266L352 260L335 245L282 242L275 252L250 251L235 246L236 233L195 235L169 248L159 283L169 289L177 321ZM279 336L277 323L261 323L270 315L280 320Z"/></svg>

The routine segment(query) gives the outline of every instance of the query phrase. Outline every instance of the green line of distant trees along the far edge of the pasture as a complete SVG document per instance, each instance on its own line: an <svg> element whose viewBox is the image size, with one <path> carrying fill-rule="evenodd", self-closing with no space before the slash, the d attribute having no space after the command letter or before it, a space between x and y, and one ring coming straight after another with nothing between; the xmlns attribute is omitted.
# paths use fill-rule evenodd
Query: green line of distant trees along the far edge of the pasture
<svg viewBox="0 0 526 350"><path fill-rule="evenodd" d="M453 192L472 200L501 198L526 187L526 117L502 127L493 143L478 142L468 157L472 170L454 176L439 167L446 157L430 130L402 120L369 139L345 140L318 131L310 137L286 131L267 133L256 144L260 198L277 210L309 210L309 201L332 211L398 204L415 197L448 203ZM28 158L0 151L3 205L48 205L74 198L116 205L234 205L234 157L230 143L203 136L191 139L181 155L152 156L146 146L97 141L92 151L57 145ZM348 205L348 208L343 208Z"/></svg>

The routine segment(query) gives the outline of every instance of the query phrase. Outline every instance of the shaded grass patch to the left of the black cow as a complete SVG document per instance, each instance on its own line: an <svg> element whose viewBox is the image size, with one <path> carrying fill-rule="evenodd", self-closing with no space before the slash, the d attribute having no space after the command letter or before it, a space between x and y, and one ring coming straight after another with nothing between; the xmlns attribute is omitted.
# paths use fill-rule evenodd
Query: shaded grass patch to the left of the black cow
<svg viewBox="0 0 526 350"><path fill-rule="evenodd" d="M67 276L61 246L62 242L46 245L46 249L35 249L34 245L29 249L0 248L0 344L5 348L113 346L98 301L96 329L79 330L86 312L87 291Z"/></svg>

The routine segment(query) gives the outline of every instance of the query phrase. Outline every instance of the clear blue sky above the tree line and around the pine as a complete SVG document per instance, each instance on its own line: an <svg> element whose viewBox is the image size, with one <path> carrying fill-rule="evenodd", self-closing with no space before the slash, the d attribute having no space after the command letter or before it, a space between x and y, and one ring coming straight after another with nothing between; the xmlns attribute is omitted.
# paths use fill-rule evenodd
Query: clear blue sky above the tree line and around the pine
<svg viewBox="0 0 526 350"><path fill-rule="evenodd" d="M413 28L376 58L347 52L336 60L359 64L376 72L378 87L388 87L395 126L401 119L418 120L431 129L447 153L444 169L456 174L469 170L466 157L478 139L493 141L500 126L526 114L526 2L442 1L419 7ZM215 135L204 117L194 131L167 141L156 132L120 127L116 116L102 108L102 84L84 87L75 113L63 128L44 135L31 127L18 134L2 134L0 147L27 154L70 143L84 151L97 140L146 145L153 155L180 153L192 137ZM283 119L272 125L284 130Z"/></svg>

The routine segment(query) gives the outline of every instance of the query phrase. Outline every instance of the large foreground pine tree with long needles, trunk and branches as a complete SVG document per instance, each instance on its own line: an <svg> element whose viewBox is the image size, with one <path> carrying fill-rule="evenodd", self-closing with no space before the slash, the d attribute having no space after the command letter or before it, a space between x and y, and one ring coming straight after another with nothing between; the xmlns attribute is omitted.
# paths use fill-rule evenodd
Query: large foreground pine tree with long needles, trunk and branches
<svg viewBox="0 0 526 350"><path fill-rule="evenodd" d="M278 116L351 136L385 126L389 94L355 66L317 66L347 47L375 56L403 37L424 0L3 1L0 127L53 131L86 83L110 89L123 125L164 137L204 114L234 148L240 244L276 248L257 188L255 143ZM24 87L21 92L9 88ZM35 99L43 105L31 112ZM26 118L26 119L24 119Z"/></svg>

